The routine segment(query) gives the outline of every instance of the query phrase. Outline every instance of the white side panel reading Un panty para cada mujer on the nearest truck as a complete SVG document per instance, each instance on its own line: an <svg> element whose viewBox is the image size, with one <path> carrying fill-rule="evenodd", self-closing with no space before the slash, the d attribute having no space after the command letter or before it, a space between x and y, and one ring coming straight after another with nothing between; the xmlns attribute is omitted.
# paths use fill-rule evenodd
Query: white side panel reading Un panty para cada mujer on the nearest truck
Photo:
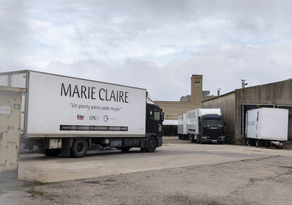
<svg viewBox="0 0 292 205"><path fill-rule="evenodd" d="M145 135L146 90L29 72L27 136Z"/></svg>

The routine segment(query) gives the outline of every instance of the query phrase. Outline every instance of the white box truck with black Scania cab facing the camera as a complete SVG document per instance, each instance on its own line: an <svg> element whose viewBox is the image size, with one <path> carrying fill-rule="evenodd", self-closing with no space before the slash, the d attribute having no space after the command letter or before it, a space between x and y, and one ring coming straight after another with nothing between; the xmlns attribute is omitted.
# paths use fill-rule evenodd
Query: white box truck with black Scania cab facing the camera
<svg viewBox="0 0 292 205"><path fill-rule="evenodd" d="M196 108L187 111L187 133L191 142L218 142L225 140L224 126L220 108Z"/></svg>

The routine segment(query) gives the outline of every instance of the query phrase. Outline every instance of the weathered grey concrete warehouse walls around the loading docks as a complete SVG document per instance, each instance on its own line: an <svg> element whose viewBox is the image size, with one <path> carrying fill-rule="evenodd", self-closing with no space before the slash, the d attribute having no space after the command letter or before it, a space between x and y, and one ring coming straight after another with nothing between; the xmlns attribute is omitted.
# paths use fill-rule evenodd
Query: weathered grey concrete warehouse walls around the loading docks
<svg viewBox="0 0 292 205"><path fill-rule="evenodd" d="M227 140L243 144L244 139L241 136L241 104L245 103L292 105L292 80L237 89L217 98L203 101L202 107L220 107L222 115L227 122L225 131ZM292 127L290 116L289 119L288 127ZM288 136L291 136L291 131Z"/></svg>

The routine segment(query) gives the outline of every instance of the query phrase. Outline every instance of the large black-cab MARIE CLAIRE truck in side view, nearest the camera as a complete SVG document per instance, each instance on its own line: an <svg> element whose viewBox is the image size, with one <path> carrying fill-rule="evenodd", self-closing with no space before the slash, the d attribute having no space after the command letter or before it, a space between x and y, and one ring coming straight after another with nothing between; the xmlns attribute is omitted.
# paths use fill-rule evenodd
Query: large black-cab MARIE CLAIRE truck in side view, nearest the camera
<svg viewBox="0 0 292 205"><path fill-rule="evenodd" d="M164 113L146 89L30 70L0 73L0 85L27 88L13 109L22 109L21 143L40 154L162 146Z"/></svg>

